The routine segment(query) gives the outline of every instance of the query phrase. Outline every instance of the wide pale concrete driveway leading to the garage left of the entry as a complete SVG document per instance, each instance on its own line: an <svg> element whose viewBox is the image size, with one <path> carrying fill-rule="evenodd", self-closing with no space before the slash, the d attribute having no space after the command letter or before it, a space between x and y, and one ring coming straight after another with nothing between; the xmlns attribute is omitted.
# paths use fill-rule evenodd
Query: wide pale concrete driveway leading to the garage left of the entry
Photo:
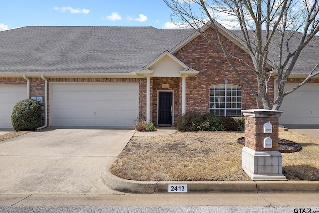
<svg viewBox="0 0 319 213"><path fill-rule="evenodd" d="M101 173L134 133L46 128L0 142L0 194L110 194Z"/></svg>

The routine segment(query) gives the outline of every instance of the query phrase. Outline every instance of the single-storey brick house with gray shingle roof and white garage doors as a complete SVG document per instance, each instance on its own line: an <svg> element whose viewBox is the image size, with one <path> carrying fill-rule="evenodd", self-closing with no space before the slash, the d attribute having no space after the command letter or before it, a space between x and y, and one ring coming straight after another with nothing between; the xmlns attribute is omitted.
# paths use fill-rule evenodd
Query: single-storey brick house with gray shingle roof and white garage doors
<svg viewBox="0 0 319 213"><path fill-rule="evenodd" d="M249 63L239 39L221 30L227 48ZM317 49L300 64L318 59ZM252 71L235 63L254 81ZM294 71L287 87L305 78L305 71ZM275 75L272 101L274 84ZM255 97L214 44L193 30L153 27L28 26L0 32L0 128L12 128L13 105L31 97L43 97L48 126L132 127L137 117L172 125L186 112L241 116L242 109L256 108ZM319 79L311 79L285 98L280 122L319 124L318 106Z"/></svg>

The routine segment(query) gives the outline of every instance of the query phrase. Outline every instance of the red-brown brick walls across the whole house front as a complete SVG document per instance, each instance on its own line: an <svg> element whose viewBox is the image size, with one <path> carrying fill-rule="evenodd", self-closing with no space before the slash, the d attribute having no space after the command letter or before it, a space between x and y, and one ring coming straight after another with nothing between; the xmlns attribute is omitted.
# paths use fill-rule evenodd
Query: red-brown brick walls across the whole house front
<svg viewBox="0 0 319 213"><path fill-rule="evenodd" d="M215 37L215 42L217 38ZM223 37L225 46L229 52L248 62L251 66L250 56L242 49L236 46L227 38ZM213 43L198 36L178 52L174 54L180 61L185 63L190 68L199 71L195 77L186 78L186 112L209 112L209 88L213 85L224 84L225 79L228 84L238 85L242 87L242 108L256 108L256 99L253 96L247 85L239 80L238 76L233 71L232 67L226 61L223 52L218 49ZM252 83L253 88L257 91L256 74L249 70L240 61L233 61L239 72ZM40 77L30 79L30 96L44 97L44 80ZM140 78L47 78L48 93L49 83L51 82L137 82L139 83L139 117L146 117L146 79ZM288 79L288 83L300 83L303 79L293 78ZM254 83L255 82L255 83ZM310 79L310 83L319 83L319 79ZM0 84L20 85L26 84L24 78L0 78ZM169 84L169 88L163 89L162 84ZM153 123L157 121L157 96L159 90L174 91L174 116L181 114L181 94L182 94L182 78L180 77L151 77L151 119ZM273 102L274 97L274 79L269 81L269 98ZM48 94L49 97L49 94ZM48 106L50 105L48 100ZM48 118L50 110L48 109ZM49 121L48 121L49 122ZM49 124L49 123L48 123Z"/></svg>

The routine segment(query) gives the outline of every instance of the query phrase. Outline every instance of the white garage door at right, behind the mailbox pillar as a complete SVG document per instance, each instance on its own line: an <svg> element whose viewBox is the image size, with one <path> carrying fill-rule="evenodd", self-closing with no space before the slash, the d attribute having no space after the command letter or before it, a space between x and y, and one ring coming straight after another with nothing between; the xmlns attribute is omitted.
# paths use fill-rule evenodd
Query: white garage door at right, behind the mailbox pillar
<svg viewBox="0 0 319 213"><path fill-rule="evenodd" d="M285 91L297 84L286 84ZM279 124L319 124L319 84L305 84L287 95L279 110Z"/></svg>

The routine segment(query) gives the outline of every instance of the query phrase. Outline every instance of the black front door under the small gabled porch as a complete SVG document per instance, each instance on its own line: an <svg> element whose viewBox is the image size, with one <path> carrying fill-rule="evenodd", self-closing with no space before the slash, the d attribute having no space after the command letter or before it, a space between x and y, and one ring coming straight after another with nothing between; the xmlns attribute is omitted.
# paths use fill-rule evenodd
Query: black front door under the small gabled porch
<svg viewBox="0 0 319 213"><path fill-rule="evenodd" d="M159 125L173 124L173 92L159 92Z"/></svg>

